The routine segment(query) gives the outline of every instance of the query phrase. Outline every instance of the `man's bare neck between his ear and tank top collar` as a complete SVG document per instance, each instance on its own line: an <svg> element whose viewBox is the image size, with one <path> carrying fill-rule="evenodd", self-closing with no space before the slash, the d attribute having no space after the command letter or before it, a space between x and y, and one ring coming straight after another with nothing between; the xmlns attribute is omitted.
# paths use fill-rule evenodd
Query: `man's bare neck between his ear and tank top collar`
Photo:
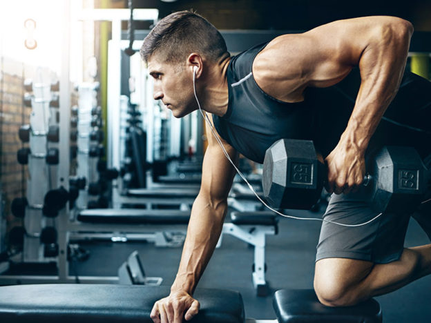
<svg viewBox="0 0 431 323"><path fill-rule="evenodd" d="M227 88L227 67L231 57L225 57L219 63L210 66L202 86L196 83L201 108L221 117L227 112L229 91Z"/></svg>

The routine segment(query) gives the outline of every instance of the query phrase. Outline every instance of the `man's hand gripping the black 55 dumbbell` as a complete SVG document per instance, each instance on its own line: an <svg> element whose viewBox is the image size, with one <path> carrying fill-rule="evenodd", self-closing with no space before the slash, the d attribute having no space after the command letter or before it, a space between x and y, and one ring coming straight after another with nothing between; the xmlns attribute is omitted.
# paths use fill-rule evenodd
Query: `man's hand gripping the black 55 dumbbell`
<svg viewBox="0 0 431 323"><path fill-rule="evenodd" d="M365 158L362 150L346 146L341 141L325 159L327 165L326 189L341 194L356 191L365 175Z"/></svg>

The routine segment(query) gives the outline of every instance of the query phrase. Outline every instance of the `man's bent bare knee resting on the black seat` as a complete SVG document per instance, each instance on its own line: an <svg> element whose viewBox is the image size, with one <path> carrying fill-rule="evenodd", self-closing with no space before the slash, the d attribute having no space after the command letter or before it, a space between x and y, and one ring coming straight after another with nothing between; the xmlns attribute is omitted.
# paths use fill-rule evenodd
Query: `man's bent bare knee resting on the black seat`
<svg viewBox="0 0 431 323"><path fill-rule="evenodd" d="M372 263L361 260L319 260L314 275L318 300L326 306L352 306L363 301L361 282L371 269Z"/></svg>

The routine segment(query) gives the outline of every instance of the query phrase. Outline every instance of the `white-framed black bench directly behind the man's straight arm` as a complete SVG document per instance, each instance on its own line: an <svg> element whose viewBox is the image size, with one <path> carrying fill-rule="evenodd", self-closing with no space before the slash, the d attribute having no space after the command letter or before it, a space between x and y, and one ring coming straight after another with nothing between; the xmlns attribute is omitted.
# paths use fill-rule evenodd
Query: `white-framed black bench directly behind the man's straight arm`
<svg viewBox="0 0 431 323"><path fill-rule="evenodd" d="M266 296L269 293L269 284L265 280L265 241L267 235L278 233L278 221L276 214L272 212L231 212L231 222L223 224L222 235L217 247L222 244L223 234L233 235L254 247L254 260L252 268L253 286L256 295ZM152 210L152 209L92 209L79 213L77 220L82 222L79 231L87 233L70 233L70 239L113 239L122 237L123 241L128 239L145 239L154 242L155 246L181 246L184 242L184 226L189 223L190 211L180 210ZM108 224L115 225L109 228ZM129 227L120 229L121 226ZM182 225L182 235L166 231L166 225ZM139 233L133 233L131 228L139 229ZM157 228L160 226L160 228ZM145 231L151 230L151 233ZM93 231L93 233L88 233ZM111 232L111 233L107 233Z"/></svg>

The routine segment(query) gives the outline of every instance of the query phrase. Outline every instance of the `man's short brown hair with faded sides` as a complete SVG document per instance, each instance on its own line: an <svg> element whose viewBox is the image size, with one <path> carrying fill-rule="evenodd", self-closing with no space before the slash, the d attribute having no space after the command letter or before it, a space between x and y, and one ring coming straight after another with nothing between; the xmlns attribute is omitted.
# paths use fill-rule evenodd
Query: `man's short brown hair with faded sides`
<svg viewBox="0 0 431 323"><path fill-rule="evenodd" d="M188 10L169 14L144 39L140 54L145 62L157 52L164 61L178 63L191 52L211 61L227 54L220 32L207 19Z"/></svg>

